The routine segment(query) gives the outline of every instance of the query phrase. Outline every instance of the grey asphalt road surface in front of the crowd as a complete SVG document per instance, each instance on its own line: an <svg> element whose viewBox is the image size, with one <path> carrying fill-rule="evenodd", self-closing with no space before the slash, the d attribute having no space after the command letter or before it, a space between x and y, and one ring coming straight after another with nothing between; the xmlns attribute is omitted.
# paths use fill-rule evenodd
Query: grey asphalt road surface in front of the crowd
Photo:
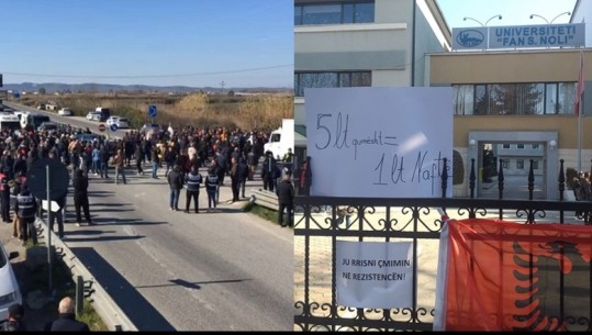
<svg viewBox="0 0 592 335"><path fill-rule="evenodd" d="M164 177L127 177L129 185L114 185L90 176L97 226L70 221L65 242L139 331L293 330L291 230L243 213L239 203L225 204L228 186L220 212L186 214L168 209ZM72 220L71 198L68 211Z"/></svg>

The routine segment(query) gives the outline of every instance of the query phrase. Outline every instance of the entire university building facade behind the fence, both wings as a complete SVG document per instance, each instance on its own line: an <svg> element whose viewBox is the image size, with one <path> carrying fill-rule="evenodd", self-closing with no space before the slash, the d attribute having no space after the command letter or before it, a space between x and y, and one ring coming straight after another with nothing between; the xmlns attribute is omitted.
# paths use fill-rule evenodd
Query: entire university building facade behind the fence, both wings
<svg viewBox="0 0 592 335"><path fill-rule="evenodd" d="M570 24L585 22L590 2L577 1ZM454 186L455 197L469 196L471 164L480 177L477 197L489 181L488 169L500 164L509 176L526 176L532 166L546 199L559 198L560 159L565 168L592 169L592 133L587 131L592 126L592 92L584 89L581 116L573 109L580 55L587 65L584 86L592 78L588 47L454 51L454 35L437 1L294 4L297 129L305 124L306 88L450 86L454 148L466 171L463 182ZM587 46L591 27L578 25L585 30ZM493 167L487 166L492 161Z"/></svg>

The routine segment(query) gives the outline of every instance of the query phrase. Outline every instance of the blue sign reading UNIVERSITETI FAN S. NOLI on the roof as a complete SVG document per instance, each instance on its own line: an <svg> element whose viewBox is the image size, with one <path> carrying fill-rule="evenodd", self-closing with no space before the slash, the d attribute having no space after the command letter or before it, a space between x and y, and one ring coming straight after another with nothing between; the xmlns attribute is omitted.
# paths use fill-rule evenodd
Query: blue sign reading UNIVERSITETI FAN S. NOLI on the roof
<svg viewBox="0 0 592 335"><path fill-rule="evenodd" d="M543 24L453 29L453 49L581 47L585 24Z"/></svg>

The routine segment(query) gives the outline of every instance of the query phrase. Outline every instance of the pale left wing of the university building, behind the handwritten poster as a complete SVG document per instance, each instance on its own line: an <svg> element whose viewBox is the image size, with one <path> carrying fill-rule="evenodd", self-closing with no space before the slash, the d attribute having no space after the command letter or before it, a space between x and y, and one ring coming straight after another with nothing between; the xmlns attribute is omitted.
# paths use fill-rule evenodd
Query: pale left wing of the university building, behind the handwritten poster
<svg viewBox="0 0 592 335"><path fill-rule="evenodd" d="M433 0L295 0L297 132L305 135L306 88L427 86L425 57L449 40Z"/></svg>

